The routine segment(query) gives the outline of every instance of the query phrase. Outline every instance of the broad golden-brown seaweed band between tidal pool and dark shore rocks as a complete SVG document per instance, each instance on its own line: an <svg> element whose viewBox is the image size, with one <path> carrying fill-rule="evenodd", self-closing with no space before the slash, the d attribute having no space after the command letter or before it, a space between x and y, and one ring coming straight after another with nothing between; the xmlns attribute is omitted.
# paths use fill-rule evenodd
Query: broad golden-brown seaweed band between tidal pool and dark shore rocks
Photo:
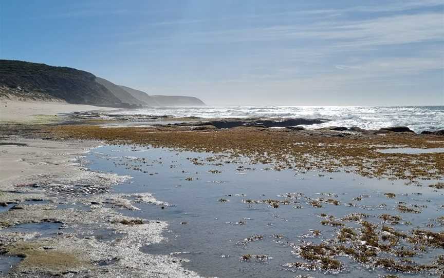
<svg viewBox="0 0 444 278"><path fill-rule="evenodd" d="M113 144L132 143L174 149L227 153L230 159L250 158L251 163L272 164L275 170L345 170L366 177L416 180L442 178L444 153L390 154L377 152L376 145L404 145L412 148L443 147L433 135L387 133L349 134L338 137L328 131L267 130L239 127L229 130L192 131L174 127L101 128L89 125L49 127L54 138L96 139ZM335 136L334 136L335 135ZM418 159L420 157L420 159ZM201 164L193 160L192 163Z"/></svg>

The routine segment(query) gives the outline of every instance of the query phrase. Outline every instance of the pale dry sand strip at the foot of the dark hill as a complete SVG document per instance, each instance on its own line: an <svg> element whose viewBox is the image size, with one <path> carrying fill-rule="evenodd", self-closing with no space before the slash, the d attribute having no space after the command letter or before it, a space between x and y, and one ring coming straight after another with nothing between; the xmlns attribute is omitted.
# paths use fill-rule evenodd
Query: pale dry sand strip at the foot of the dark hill
<svg viewBox="0 0 444 278"><path fill-rule="evenodd" d="M98 107L65 102L33 102L0 100L0 122L32 123L36 121L57 121L56 115L75 111L117 110L118 108ZM51 119L51 117L53 117Z"/></svg>

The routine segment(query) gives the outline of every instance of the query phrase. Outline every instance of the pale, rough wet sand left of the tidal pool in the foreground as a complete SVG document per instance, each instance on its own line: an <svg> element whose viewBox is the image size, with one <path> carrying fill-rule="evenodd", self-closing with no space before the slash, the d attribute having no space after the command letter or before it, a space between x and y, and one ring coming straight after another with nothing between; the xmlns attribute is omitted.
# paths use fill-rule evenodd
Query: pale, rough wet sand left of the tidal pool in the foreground
<svg viewBox="0 0 444 278"><path fill-rule="evenodd" d="M27 223L62 223L64 227L62 232L49 238L40 237L39 233L29 237L26 233L2 231L0 250L25 257L11 269L9 276L23 273L61 275L67 271L95 277L130 273L132 277L144 277L146 273L152 273L149 275L153 277L198 276L183 269L173 256L150 255L138 250L142 245L163 241L161 233L168 224L128 217L119 212L122 208L137 209L133 206L135 196L142 198L139 202L156 203L157 200L150 193L110 193L113 185L131 177L85 168L86 153L100 146L100 142L8 136L6 140L0 140L0 144L0 204L7 209L1 212L0 231ZM77 184L83 184L85 190L72 191ZM76 203L90 207L90 211L63 208ZM116 209L106 208L105 203L114 204ZM95 226L114 230L120 234L119 244L101 243L94 236L73 240L72 236L80 232L75 231L79 226L88 226L91 230ZM88 230L83 232L89 234ZM25 239L32 239L32 242ZM41 249L48 245L50 249ZM122 249L126 245L132 247ZM125 254L128 260L110 266L95 266L94 262L106 262L113 256ZM58 263L61 259L63 264Z"/></svg>

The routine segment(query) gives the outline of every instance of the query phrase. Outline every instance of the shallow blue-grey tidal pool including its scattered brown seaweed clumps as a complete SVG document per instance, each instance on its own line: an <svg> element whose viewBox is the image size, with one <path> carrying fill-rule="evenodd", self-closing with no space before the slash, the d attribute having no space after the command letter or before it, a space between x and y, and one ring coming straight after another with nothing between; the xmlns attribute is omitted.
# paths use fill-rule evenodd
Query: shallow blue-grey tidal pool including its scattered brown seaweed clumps
<svg viewBox="0 0 444 278"><path fill-rule="evenodd" d="M276 171L247 157L104 146L94 170L131 175L118 194L156 202L126 216L169 223L144 253L173 255L202 276L434 276L442 271L444 191L439 180ZM438 187L439 188L439 187Z"/></svg>

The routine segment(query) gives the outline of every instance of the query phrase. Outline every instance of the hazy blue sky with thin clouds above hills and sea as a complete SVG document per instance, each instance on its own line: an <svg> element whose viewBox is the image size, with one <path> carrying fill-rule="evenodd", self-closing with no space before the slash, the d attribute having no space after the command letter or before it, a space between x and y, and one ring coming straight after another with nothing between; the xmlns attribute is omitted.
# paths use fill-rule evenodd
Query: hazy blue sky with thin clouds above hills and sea
<svg viewBox="0 0 444 278"><path fill-rule="evenodd" d="M210 105L444 105L444 0L2 0L0 58Z"/></svg>

